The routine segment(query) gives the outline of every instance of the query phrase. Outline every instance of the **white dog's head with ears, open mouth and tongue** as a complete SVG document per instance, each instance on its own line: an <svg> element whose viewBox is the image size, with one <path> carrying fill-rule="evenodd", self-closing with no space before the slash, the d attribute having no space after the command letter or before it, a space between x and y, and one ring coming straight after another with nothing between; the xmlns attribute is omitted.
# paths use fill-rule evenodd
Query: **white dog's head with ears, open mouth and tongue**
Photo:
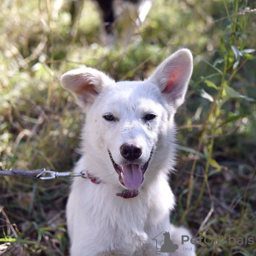
<svg viewBox="0 0 256 256"><path fill-rule="evenodd" d="M116 83L92 68L61 77L86 113L83 149L90 161L100 163L96 175L132 190L144 177L153 180L156 170L172 168L167 164L174 157L173 116L183 103L192 68L190 51L181 49L144 81Z"/></svg>

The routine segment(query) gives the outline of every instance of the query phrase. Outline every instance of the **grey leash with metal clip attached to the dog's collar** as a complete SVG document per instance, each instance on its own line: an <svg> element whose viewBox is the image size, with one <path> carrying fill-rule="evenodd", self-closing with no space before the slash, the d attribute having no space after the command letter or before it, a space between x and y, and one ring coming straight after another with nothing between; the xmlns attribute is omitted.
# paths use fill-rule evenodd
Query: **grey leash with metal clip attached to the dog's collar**
<svg viewBox="0 0 256 256"><path fill-rule="evenodd" d="M85 172L55 172L47 171L45 168L37 170L12 169L10 171L1 171L0 176L10 177L31 177L34 179L54 179L58 177L87 177Z"/></svg>

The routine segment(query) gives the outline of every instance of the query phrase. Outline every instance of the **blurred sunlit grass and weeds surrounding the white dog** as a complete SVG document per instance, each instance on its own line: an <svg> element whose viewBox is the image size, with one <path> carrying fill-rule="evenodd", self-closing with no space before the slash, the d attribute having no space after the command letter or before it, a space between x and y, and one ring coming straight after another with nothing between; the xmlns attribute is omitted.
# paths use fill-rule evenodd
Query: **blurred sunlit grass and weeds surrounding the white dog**
<svg viewBox="0 0 256 256"><path fill-rule="evenodd" d="M198 255L255 255L256 3L158 0L129 44L100 43L96 5L84 1L71 33L68 1L0 2L0 166L68 172L79 154L84 114L62 73L96 67L113 79L144 79L186 47L195 70L176 116L177 196L172 222L194 236ZM70 180L0 176L0 254L67 255ZM222 242L241 237L242 244ZM246 242L253 237L253 244ZM211 244L212 243L212 244Z"/></svg>

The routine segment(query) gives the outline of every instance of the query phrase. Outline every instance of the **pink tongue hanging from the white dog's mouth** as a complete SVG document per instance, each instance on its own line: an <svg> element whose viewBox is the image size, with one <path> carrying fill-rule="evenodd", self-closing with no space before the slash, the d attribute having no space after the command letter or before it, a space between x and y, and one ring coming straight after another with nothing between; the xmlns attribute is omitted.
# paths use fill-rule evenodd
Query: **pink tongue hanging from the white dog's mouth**
<svg viewBox="0 0 256 256"><path fill-rule="evenodd" d="M125 165L123 167L124 183L128 189L137 189L143 183L143 172L139 165Z"/></svg>

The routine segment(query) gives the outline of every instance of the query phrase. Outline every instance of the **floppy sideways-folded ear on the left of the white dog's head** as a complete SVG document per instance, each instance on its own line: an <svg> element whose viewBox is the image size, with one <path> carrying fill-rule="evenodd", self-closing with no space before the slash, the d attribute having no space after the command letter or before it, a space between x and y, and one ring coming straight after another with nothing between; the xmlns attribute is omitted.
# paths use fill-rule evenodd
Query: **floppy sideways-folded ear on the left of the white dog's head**
<svg viewBox="0 0 256 256"><path fill-rule="evenodd" d="M81 108L94 102L102 88L113 83L105 73L90 67L73 69L61 76L62 87L76 96Z"/></svg>

